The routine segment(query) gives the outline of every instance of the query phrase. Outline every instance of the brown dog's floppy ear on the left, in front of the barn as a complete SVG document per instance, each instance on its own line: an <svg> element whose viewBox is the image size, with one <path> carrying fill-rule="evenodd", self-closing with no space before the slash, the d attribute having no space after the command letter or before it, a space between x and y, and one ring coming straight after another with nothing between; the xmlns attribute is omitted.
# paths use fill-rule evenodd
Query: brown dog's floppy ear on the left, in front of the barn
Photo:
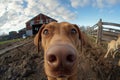
<svg viewBox="0 0 120 80"><path fill-rule="evenodd" d="M34 38L34 44L37 46L38 52L40 50L41 32L44 27L45 27L45 24L43 24L42 27L40 27L38 33L35 35L35 38Z"/></svg>

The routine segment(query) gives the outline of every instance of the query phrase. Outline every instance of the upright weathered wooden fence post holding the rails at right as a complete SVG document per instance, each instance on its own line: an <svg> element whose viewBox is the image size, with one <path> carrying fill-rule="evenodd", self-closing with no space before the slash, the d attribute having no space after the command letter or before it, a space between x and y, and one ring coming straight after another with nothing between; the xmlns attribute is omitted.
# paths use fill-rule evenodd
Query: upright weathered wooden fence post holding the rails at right
<svg viewBox="0 0 120 80"><path fill-rule="evenodd" d="M99 20L98 22L98 30L97 30L97 39L96 39L96 43L97 44L101 44L101 40L102 40L102 19Z"/></svg>

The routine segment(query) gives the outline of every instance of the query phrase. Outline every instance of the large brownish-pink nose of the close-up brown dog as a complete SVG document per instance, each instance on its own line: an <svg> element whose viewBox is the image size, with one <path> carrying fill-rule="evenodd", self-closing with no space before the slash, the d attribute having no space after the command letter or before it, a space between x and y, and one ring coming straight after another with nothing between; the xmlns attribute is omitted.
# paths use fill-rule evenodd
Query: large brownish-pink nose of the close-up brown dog
<svg viewBox="0 0 120 80"><path fill-rule="evenodd" d="M51 47L46 55L49 66L53 68L71 68L77 57L76 51L66 45Z"/></svg>

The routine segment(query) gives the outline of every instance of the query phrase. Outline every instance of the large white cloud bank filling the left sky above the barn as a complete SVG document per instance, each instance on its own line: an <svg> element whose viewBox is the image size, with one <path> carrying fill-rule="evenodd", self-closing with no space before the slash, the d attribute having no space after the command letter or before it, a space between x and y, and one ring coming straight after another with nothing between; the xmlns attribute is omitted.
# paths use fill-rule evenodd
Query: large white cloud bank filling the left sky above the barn
<svg viewBox="0 0 120 80"><path fill-rule="evenodd" d="M25 22L39 13L59 21L76 18L58 0L0 0L0 34L25 27Z"/></svg>

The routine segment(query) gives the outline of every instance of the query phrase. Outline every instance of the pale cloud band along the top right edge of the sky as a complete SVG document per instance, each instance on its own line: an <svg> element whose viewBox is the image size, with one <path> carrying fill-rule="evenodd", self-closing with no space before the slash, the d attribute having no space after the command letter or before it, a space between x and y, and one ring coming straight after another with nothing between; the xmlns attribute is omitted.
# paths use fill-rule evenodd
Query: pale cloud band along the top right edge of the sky
<svg viewBox="0 0 120 80"><path fill-rule="evenodd" d="M114 6L115 4L120 3L120 0L70 0L70 2L73 8L85 7L88 5L104 8Z"/></svg>

